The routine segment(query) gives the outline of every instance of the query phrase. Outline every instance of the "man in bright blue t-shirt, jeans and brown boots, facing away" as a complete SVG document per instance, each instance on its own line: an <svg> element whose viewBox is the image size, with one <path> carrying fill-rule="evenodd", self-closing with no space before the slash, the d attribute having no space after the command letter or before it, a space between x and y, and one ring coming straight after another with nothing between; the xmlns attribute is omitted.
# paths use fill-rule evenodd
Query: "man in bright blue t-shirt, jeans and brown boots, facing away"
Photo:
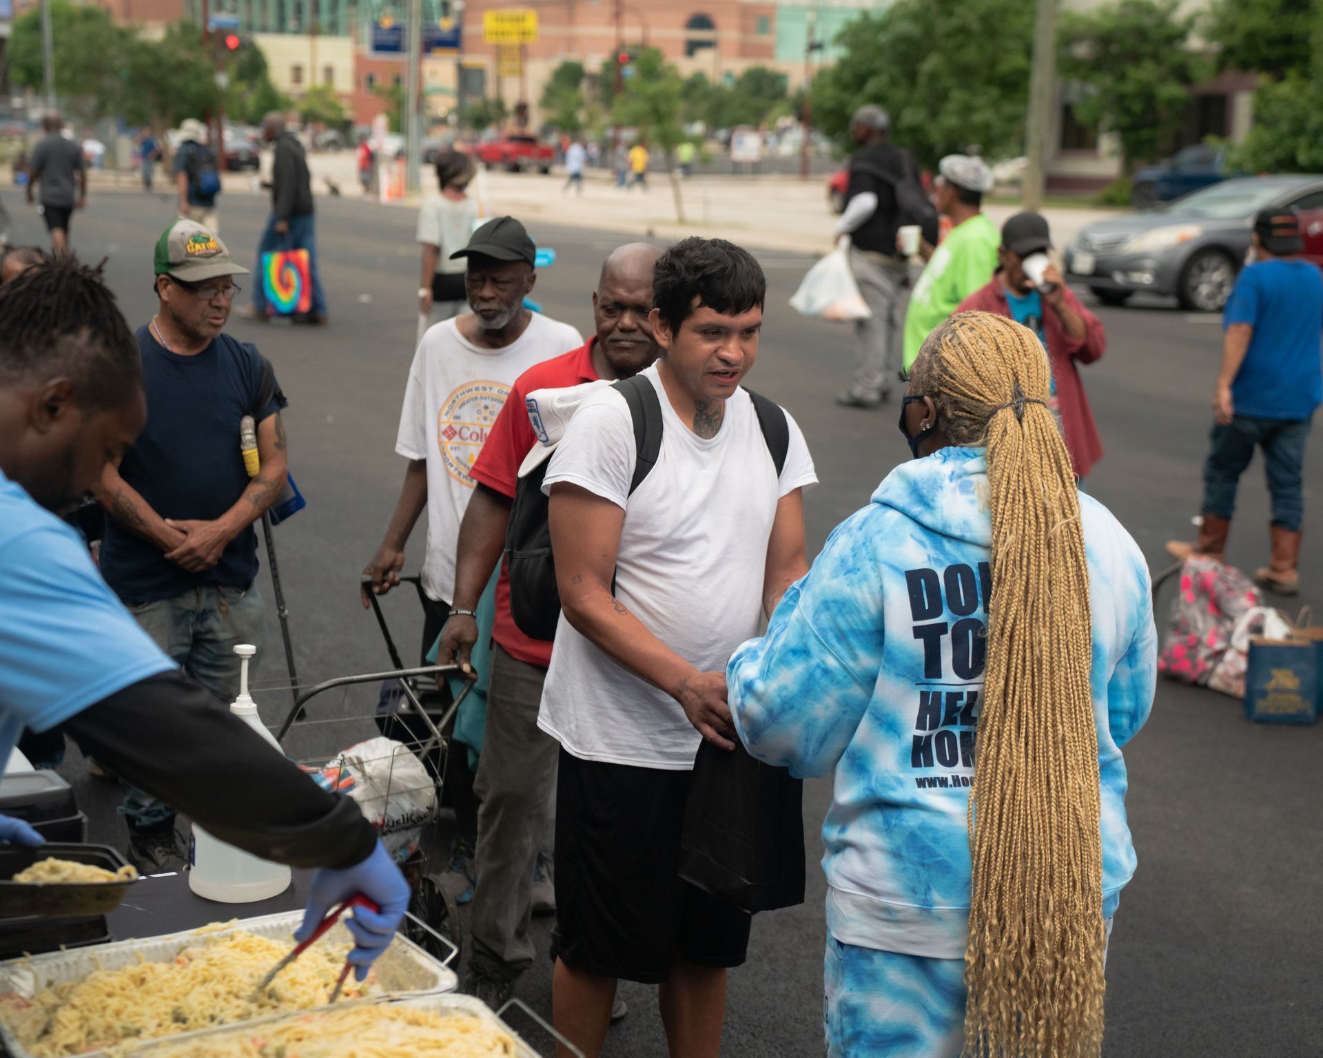
<svg viewBox="0 0 1323 1058"><path fill-rule="evenodd" d="M1199 540L1172 541L1167 550L1181 559L1222 558L1236 485L1259 447L1273 496L1273 549L1254 579L1269 591L1295 595L1304 517L1301 467L1314 409L1323 402L1323 274L1301 257L1304 247L1294 209L1261 212L1250 238L1253 261L1237 278L1222 313L1226 335Z"/></svg>

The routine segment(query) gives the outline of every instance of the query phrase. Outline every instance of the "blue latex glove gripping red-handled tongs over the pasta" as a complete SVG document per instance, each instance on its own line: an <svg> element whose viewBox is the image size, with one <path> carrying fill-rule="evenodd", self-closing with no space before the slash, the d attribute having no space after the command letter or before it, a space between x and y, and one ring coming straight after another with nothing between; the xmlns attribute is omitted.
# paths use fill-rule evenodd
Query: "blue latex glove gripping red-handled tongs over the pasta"
<svg viewBox="0 0 1323 1058"><path fill-rule="evenodd" d="M294 939L302 942L335 907L359 893L381 909L380 914L373 914L365 907L355 907L352 914L340 919L353 935L355 948L347 961L355 967L355 980L361 981L368 976L372 961L390 944L409 907L409 882L380 841L372 856L352 868L314 872L303 924Z"/></svg>

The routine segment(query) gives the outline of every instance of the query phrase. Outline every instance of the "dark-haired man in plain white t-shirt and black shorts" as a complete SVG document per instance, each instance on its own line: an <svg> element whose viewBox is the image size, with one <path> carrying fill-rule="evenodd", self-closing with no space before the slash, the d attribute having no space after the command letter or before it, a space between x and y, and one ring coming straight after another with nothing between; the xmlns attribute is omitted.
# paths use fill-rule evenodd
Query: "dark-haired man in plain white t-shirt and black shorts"
<svg viewBox="0 0 1323 1058"><path fill-rule="evenodd" d="M562 606L538 715L561 743L553 1000L557 1029L590 1058L620 977L660 985L671 1054L716 1055L726 968L749 943L749 916L683 882L679 860L699 743L734 743L726 660L807 571L808 447L767 402L785 417L778 473L740 389L765 295L738 246L671 247L654 272L662 357L636 376L660 405L652 469L638 481L630 406L603 387L546 472Z"/></svg>

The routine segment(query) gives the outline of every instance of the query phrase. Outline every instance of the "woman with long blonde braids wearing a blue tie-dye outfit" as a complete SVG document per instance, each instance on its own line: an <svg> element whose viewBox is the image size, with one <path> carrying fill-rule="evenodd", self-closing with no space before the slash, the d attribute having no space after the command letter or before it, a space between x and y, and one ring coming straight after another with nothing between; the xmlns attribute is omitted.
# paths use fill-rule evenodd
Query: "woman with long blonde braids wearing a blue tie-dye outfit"
<svg viewBox="0 0 1323 1058"><path fill-rule="evenodd" d="M1121 747L1156 635L1144 559L1077 491L1048 387L1024 327L934 331L901 407L914 459L730 660L749 751L836 770L832 1058L1101 1053L1135 869Z"/></svg>

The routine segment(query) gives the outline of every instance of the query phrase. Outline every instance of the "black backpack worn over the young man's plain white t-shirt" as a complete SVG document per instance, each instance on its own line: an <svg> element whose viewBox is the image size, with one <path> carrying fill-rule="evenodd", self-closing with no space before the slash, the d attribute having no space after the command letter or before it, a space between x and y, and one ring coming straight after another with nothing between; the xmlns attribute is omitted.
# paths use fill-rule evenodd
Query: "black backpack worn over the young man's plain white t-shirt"
<svg viewBox="0 0 1323 1058"><path fill-rule="evenodd" d="M662 402L656 387L640 376L626 378L614 386L630 406L634 421L634 477L630 495L643 484L643 479L656 466L662 454ZM771 452L777 476L786 466L790 450L790 426L786 413L766 397L746 389L758 413L758 426ZM515 501L509 509L505 530L505 570L509 574L509 610L519 630L542 640L556 639L556 624L561 616L561 592L556 586L556 557L552 554L552 530L546 522L548 499L542 495L549 459L537 469L519 479Z"/></svg>

